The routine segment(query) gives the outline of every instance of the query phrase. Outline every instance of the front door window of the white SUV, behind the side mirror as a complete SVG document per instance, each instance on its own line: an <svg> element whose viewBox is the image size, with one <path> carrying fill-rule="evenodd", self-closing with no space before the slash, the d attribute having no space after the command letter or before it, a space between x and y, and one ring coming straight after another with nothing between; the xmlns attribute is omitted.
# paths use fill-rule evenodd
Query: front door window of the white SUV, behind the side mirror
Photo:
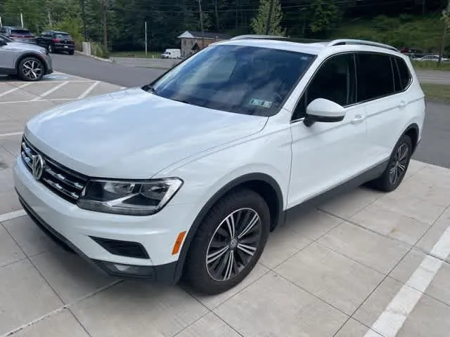
<svg viewBox="0 0 450 337"><path fill-rule="evenodd" d="M325 98L342 106L356 103L353 54L336 55L323 62L297 103L293 120L304 117L307 106L316 98Z"/></svg>

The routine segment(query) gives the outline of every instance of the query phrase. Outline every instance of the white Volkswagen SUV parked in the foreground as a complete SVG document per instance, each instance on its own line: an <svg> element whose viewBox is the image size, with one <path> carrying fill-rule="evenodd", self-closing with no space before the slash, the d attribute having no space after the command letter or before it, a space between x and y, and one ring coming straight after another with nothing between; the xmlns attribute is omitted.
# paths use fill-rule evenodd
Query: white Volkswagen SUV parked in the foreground
<svg viewBox="0 0 450 337"><path fill-rule="evenodd" d="M143 88L31 119L15 187L45 232L108 274L219 293L288 209L366 182L394 190L424 117L390 46L235 38Z"/></svg>

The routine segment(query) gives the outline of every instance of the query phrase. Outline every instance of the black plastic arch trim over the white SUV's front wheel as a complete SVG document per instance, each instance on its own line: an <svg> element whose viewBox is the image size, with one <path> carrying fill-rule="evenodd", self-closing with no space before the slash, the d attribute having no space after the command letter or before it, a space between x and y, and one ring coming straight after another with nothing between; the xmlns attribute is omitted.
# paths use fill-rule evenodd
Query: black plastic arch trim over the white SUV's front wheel
<svg viewBox="0 0 450 337"><path fill-rule="evenodd" d="M258 194L260 194L264 198L264 200L266 200L271 214L271 230L274 230L277 225L283 221L283 192L281 192L281 187L274 178L267 175L266 173L248 173L240 176L239 178L231 180L231 182L227 183L226 185L221 187L220 190L214 193L214 195L207 201L207 203L195 217L193 224L188 230L188 234L186 234L186 239L184 240L184 244L181 247L181 251L179 253L179 258L176 262L176 270L174 275L175 282L178 282L178 280L181 278L181 275L183 274L184 262L186 260L186 257L188 256L188 251L191 247L193 237L195 236L200 223L207 215L207 212L210 211L212 206L217 201L219 201L219 199L224 197L229 192L241 187L247 187L251 190L254 190Z"/></svg>

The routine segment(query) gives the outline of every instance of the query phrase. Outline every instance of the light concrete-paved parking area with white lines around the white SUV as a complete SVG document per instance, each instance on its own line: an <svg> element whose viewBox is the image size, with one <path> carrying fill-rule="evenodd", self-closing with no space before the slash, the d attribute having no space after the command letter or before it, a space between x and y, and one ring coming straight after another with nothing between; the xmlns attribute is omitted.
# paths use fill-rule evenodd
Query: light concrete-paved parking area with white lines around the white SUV
<svg viewBox="0 0 450 337"><path fill-rule="evenodd" d="M361 187L290 216L219 296L106 277L65 253L13 192L20 134L38 112L118 88L0 79L0 336L449 336L450 170L420 161L395 192Z"/></svg>

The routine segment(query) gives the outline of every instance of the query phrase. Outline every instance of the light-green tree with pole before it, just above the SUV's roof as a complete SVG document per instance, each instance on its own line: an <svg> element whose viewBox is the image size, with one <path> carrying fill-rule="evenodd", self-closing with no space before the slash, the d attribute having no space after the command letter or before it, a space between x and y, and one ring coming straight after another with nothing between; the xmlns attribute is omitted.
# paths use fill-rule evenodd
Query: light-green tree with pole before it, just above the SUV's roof
<svg viewBox="0 0 450 337"><path fill-rule="evenodd" d="M274 8L271 15L269 34L284 36L285 29L281 27L281 20L283 20L283 12L281 11L280 0L261 0L259 2L258 13L255 18L252 18L250 26L255 34L265 34L267 19L269 18L270 3L274 1Z"/></svg>

